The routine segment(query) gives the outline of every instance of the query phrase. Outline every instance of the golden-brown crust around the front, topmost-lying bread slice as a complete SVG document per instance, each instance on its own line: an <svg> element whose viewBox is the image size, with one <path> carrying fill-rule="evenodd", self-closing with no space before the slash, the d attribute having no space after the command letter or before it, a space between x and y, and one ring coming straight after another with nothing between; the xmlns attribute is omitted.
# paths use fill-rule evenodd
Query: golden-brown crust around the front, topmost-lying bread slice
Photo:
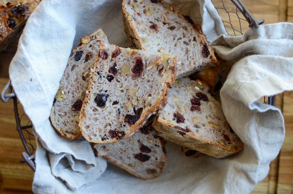
<svg viewBox="0 0 293 194"><path fill-rule="evenodd" d="M104 47L104 43L103 42L100 42L100 51L103 50L103 47ZM82 125L82 120L85 118L85 109L87 107L87 104L88 104L88 100L90 98L90 93L91 93L91 84L93 83L93 75L95 74L95 72L98 70L98 66L100 65L99 64L99 57L100 57L100 51L99 51L99 54L96 58L96 61L95 61L95 65L94 65L94 72L91 73L91 76L90 76L90 80L88 82L88 87L87 87L87 91L88 93L86 94L85 98L84 98L84 103L82 104L82 107L81 107L81 112L80 112L80 116L79 116L79 127L81 129L81 133L82 135L89 141L89 142L93 142L93 143L100 143L100 144L107 144L107 143L117 143L119 141L121 141L122 139L112 139L111 141L107 141L107 142L104 142L102 140L93 140L93 139L90 139L88 138L86 135L85 135L85 131L84 131L84 126ZM173 84L173 81L175 80L176 78L176 61L177 61L177 58L179 56L175 56L173 57L173 64L171 67L169 67L169 69L171 70L171 76L168 78L168 80L165 82L165 88L164 88L164 91L162 92L161 96L159 96L157 99L156 99L156 102L154 104L151 105L151 107L145 111L142 115L140 115L140 118L139 120L137 120L137 122L135 122L131 128L130 128L130 132L128 134L125 134L125 136L123 137L123 139L127 138L129 135L131 135L132 133L136 132L139 127L142 127L142 125L144 125L144 123L147 121L147 119L151 116L151 115L154 115L156 114L159 110L161 110L162 108L165 107L165 105L167 104L167 100L168 100L168 97L166 96L166 94L168 94L168 86L171 86Z"/></svg>

